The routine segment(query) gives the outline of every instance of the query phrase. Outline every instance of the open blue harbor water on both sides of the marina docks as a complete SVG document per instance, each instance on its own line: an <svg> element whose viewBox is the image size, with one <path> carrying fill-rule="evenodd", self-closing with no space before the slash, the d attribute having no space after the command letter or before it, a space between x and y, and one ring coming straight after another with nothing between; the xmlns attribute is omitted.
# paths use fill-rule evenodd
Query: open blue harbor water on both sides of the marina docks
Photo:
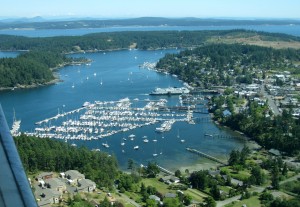
<svg viewBox="0 0 300 207"><path fill-rule="evenodd" d="M6 114L9 125L12 124L13 110L18 119L22 120L22 130L32 131L34 123L55 116L58 110L70 111L80 108L85 101L95 100L110 101L128 97L140 100L166 98L170 105L178 104L178 96L151 97L148 95L155 87L182 86L182 82L176 78L156 73L138 66L145 61L154 62L166 53L175 53L176 50L140 51L123 50L106 53L78 54L93 60L91 66L68 66L59 71L63 82L55 85L35 89L14 90L0 92L0 101ZM96 74L96 76L94 75ZM89 77L87 79L87 77ZM128 79L130 81L128 81ZM103 82L103 85L100 82ZM72 85L74 84L74 88ZM207 114L198 114L199 117L207 117ZM187 146L197 148L203 152L225 158L234 148L241 148L243 140L217 139L204 136L205 133L228 135L230 132L219 129L213 123L199 123L190 125L185 122L176 122L170 132L161 134L155 132L160 124L138 128L124 134L116 134L103 140L77 141L92 148L100 148L110 154L115 154L120 166L125 169L129 158L137 163L147 164L153 160L153 153L160 153L156 161L171 170L179 166L189 166L199 162L208 162L185 150ZM185 139L181 143L177 138ZM134 141L127 141L122 148L122 137L135 134ZM148 136L149 143L143 143L142 137ZM152 142L156 138L157 143ZM102 143L106 142L110 148L104 149ZM140 150L133 150L133 146L139 145ZM125 153L122 153L122 149Z"/></svg>

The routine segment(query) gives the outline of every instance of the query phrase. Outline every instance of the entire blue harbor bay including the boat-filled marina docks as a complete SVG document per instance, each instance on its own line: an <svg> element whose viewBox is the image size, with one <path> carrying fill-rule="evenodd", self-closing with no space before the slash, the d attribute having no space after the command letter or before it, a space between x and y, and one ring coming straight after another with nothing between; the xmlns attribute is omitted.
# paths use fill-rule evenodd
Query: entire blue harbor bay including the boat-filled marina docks
<svg viewBox="0 0 300 207"><path fill-rule="evenodd" d="M13 125L15 109L17 120L22 120L20 132L51 137L72 147L107 152L116 156L124 170L128 159L144 165L155 161L172 171L184 167L182 163L188 167L208 161L189 153L186 150L189 146L215 157L225 157L232 149L242 148L242 139L235 139L237 135L212 122L207 98L201 93L149 95L155 88L187 87L177 77L139 67L176 52L124 50L105 55L103 52L72 54L91 59L92 64L60 69L62 81L54 85L1 92L8 124ZM205 133L218 134L220 138L212 139ZM225 136L233 138L221 138Z"/></svg>

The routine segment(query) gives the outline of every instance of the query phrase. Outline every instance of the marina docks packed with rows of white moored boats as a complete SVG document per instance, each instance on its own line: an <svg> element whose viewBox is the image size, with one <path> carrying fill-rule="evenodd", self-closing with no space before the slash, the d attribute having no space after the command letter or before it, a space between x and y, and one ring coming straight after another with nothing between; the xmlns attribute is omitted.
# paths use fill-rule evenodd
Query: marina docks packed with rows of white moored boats
<svg viewBox="0 0 300 207"><path fill-rule="evenodd" d="M136 107L143 104L144 106ZM135 107L132 107L135 106ZM157 132L169 131L178 121L193 124L192 108L174 111L168 108L166 99L95 101L84 103L81 108L59 113L36 123L34 132L40 138L68 140L97 140L130 130L161 123Z"/></svg>

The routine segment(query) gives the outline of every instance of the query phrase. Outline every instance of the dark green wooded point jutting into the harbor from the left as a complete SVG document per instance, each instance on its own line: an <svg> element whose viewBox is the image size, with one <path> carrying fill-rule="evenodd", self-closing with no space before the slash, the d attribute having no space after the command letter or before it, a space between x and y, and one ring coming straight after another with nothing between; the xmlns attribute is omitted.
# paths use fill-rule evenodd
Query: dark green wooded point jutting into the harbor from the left
<svg viewBox="0 0 300 207"><path fill-rule="evenodd" d="M48 83L54 79L52 69L73 61L77 59L54 51L30 51L16 58L0 58L0 88Z"/></svg>

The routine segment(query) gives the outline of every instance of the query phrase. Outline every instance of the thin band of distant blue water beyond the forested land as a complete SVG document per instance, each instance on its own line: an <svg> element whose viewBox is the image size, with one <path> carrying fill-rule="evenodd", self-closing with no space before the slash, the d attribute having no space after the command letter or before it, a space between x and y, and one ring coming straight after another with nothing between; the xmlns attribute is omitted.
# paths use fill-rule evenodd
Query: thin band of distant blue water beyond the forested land
<svg viewBox="0 0 300 207"><path fill-rule="evenodd" d="M183 31L183 30L231 30L247 29L264 32L285 33L300 36L300 25L245 25L245 26L155 26L155 27L105 27L91 29L51 29L51 30L0 30L0 34L19 35L27 37L53 37L53 36L77 36L99 32L120 32L120 31Z"/></svg>

